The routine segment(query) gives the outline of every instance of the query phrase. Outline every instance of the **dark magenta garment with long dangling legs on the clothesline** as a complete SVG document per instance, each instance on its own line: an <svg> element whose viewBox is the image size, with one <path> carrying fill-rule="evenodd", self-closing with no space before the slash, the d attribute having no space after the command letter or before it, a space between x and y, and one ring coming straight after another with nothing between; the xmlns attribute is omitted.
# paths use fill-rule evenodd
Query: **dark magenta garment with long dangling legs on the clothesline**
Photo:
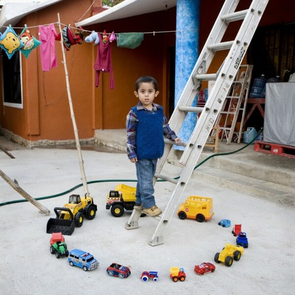
<svg viewBox="0 0 295 295"><path fill-rule="evenodd" d="M99 86L100 71L110 72L110 89L115 88L115 81L112 67L112 52L110 39L103 43L101 34L98 34L99 43L97 44L97 55L94 63L95 73L95 87Z"/></svg>

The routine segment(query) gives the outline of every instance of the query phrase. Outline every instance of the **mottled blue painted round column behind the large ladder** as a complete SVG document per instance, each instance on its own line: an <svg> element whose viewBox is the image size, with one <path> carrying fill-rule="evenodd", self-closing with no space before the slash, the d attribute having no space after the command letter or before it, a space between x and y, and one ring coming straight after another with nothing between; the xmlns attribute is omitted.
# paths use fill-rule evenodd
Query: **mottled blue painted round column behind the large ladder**
<svg viewBox="0 0 295 295"><path fill-rule="evenodd" d="M199 56L200 0L177 0L176 14L175 106ZM188 113L177 134L181 141L189 140L196 123L197 114Z"/></svg>

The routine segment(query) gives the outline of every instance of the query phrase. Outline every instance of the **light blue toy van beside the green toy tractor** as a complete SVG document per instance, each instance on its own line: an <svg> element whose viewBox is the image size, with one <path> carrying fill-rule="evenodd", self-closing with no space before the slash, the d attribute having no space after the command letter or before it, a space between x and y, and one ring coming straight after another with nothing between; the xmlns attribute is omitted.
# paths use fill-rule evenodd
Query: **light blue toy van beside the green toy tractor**
<svg viewBox="0 0 295 295"><path fill-rule="evenodd" d="M92 270L99 266L99 262L90 253L79 249L69 252L68 262L70 266L82 267L84 271Z"/></svg>

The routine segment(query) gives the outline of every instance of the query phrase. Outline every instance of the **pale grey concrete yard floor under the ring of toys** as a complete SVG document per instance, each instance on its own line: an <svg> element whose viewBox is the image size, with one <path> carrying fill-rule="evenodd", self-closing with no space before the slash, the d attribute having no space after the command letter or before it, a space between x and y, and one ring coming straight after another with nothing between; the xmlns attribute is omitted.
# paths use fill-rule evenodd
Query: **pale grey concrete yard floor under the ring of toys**
<svg viewBox="0 0 295 295"><path fill-rule="evenodd" d="M51 196L81 183L77 151L74 149L15 149L15 159L0 151L0 169L16 179L32 197ZM88 181L112 181L89 184L90 195L97 205L96 217L85 220L72 236L65 236L68 248L90 252L99 261L98 269L84 272L70 267L67 259L56 259L49 251L50 236L46 224L55 217L54 207L67 203L70 194L84 195L79 187L65 195L40 200L51 211L44 216L30 203L0 206L0 294L294 294L295 227L294 207L282 206L267 199L208 184L192 177L179 203L190 195L213 198L214 216L210 221L180 220L173 215L164 244L151 247L148 242L156 221L140 219L140 228L124 228L131 212L115 218L106 210L106 197L117 183L135 186L135 166L122 153L83 150L85 173ZM165 164L164 170L177 175L179 168ZM114 181L113 181L114 180ZM165 209L174 184L157 183L157 205ZM0 205L23 199L8 183L0 179ZM247 233L249 248L233 266L214 263L214 255L225 243L235 244L232 227L218 226L221 219L230 219L232 226L242 224ZM129 266L130 277L109 277L106 268L113 262ZM214 273L199 276L194 266L211 262ZM169 278L172 266L183 267L187 278L174 283ZM159 280L144 283L142 271L158 271Z"/></svg>

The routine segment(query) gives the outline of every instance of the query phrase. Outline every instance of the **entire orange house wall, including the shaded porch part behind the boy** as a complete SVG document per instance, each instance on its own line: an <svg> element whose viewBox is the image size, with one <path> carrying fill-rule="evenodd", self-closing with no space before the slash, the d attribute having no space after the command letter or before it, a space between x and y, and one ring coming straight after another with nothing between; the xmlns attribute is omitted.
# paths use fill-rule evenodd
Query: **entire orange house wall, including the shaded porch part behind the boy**
<svg viewBox="0 0 295 295"><path fill-rule="evenodd" d="M241 2L242 5L246 5L248 0ZM281 4L279 0L269 1L261 25L294 21L294 9L289 8L295 5L295 1L289 2L288 6L285 2ZM24 24L31 27L55 23L58 21L58 12L62 24L74 27L75 21L81 18L91 3L92 0L63 0L61 3L31 13L15 27L22 27ZM201 0L200 51L222 3L223 0L215 0L212 5L212 1ZM90 16L90 11L88 14L83 19ZM176 7L84 29L100 32L106 29L109 33L173 31L176 29ZM231 39L231 35L235 35L234 29L229 29L227 38ZM56 30L59 32L57 26ZM17 33L20 33L20 30ZM38 28L31 29L31 33L37 37ZM109 73L101 73L100 86L94 87L93 64L96 47L93 43L84 42L82 45L72 46L70 51L66 52L79 138L92 138L95 129L125 128L126 114L138 102L133 94L134 84L142 75L152 75L158 80L160 95L155 102L163 105L166 115L168 114L170 46L175 46L175 32L146 33L141 46L136 49L119 48L115 41L112 44L115 89L109 88ZM30 141L74 139L59 42L56 42L56 52L58 67L49 72L42 71L39 48L32 51L29 59L22 57L24 109L3 107L1 99L1 127ZM211 72L217 70L224 56L218 53L215 59L219 60L212 65Z"/></svg>

